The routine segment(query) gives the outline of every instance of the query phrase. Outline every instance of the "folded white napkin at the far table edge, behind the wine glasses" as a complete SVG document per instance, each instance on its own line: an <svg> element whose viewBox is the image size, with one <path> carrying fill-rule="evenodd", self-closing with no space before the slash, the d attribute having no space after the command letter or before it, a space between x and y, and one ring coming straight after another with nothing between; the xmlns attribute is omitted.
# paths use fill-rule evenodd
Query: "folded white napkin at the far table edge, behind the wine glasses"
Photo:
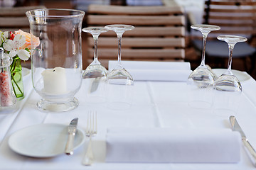
<svg viewBox="0 0 256 170"><path fill-rule="evenodd" d="M117 61L109 62L109 70ZM122 61L122 65L135 81L187 81L191 74L189 62Z"/></svg>

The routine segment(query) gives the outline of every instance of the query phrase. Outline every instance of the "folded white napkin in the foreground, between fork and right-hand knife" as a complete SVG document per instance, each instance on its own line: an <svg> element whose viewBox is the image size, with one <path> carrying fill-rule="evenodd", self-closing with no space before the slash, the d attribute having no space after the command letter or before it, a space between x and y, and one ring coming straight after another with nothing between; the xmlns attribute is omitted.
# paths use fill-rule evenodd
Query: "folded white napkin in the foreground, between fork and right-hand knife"
<svg viewBox="0 0 256 170"><path fill-rule="evenodd" d="M235 163L238 132L171 128L110 128L106 162Z"/></svg>

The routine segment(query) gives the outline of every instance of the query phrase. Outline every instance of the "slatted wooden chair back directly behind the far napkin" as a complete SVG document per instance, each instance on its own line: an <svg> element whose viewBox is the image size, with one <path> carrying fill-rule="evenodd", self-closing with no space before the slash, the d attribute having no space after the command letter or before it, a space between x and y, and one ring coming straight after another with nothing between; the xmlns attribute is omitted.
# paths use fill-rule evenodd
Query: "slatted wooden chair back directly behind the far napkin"
<svg viewBox="0 0 256 170"><path fill-rule="evenodd" d="M185 18L179 6L104 6L90 5L88 26L128 24L134 30L122 38L122 60L183 61L185 58ZM94 42L87 36L87 62L92 62ZM100 62L117 60L117 35L108 31L98 41Z"/></svg>

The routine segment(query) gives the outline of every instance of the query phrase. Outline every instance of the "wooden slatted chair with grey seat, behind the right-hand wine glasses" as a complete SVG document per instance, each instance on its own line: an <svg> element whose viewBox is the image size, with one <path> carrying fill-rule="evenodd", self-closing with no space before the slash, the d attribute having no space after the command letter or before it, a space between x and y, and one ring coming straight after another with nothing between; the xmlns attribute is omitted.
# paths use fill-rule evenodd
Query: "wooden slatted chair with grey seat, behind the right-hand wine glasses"
<svg viewBox="0 0 256 170"><path fill-rule="evenodd" d="M256 1L252 0L206 0L204 23L220 26L220 30L212 31L206 42L206 62L212 60L220 67L227 67L228 45L217 40L218 35L242 35L248 41L235 45L233 58L243 60L247 72L255 68L255 47L250 45L256 35ZM202 50L202 40L193 40L196 49ZM250 58L250 68L247 60Z"/></svg>

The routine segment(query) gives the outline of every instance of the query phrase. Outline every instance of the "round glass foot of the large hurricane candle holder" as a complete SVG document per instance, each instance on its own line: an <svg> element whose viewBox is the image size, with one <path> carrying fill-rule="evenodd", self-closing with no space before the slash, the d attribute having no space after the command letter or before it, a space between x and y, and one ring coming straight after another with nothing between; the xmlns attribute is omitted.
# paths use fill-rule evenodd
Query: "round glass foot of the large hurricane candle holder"
<svg viewBox="0 0 256 170"><path fill-rule="evenodd" d="M71 101L67 101L65 103L54 103L52 101L46 101L45 99L41 99L37 103L37 108L40 111L47 112L63 112L63 111L71 111L74 108L78 107L79 101L77 98L73 98Z"/></svg>

